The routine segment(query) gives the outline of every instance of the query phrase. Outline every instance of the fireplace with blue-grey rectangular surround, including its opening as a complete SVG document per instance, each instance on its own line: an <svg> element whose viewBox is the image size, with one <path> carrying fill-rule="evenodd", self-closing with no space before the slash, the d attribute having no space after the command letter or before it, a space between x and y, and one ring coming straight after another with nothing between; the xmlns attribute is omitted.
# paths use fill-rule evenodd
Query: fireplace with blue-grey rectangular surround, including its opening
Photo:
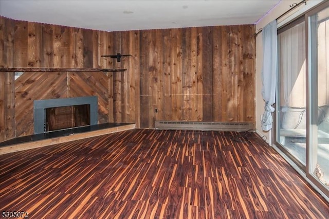
<svg viewBox="0 0 329 219"><path fill-rule="evenodd" d="M97 102L97 96L35 100L34 134L98 124Z"/></svg>

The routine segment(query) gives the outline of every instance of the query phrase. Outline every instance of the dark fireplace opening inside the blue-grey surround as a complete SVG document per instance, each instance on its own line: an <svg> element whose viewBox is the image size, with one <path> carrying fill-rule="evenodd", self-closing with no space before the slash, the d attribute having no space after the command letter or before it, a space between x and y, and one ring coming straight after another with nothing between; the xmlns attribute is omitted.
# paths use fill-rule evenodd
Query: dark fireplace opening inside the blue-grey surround
<svg viewBox="0 0 329 219"><path fill-rule="evenodd" d="M45 131L90 125L90 104L46 108Z"/></svg>

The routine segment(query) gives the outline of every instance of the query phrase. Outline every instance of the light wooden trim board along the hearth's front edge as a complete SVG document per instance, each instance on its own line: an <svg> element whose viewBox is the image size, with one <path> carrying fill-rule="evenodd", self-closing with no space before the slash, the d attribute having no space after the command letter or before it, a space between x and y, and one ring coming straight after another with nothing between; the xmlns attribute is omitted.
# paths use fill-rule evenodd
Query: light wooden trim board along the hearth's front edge
<svg viewBox="0 0 329 219"><path fill-rule="evenodd" d="M132 130L135 128L136 128L136 124L134 123L134 124L127 124L127 125L122 125L122 126L118 126L118 127L110 127L108 129L90 131L87 133L86 132L75 133L75 134L68 135L68 136L61 136L61 137L54 137L54 138L43 139L43 140L38 140L38 141L12 144L12 145L8 145L5 147L1 147L0 155L17 152L17 151L24 151L24 150L33 149L33 148L41 148L41 147L45 147L48 145L64 143L64 142L74 141L74 140L80 140L80 139L85 139L85 138L90 138L90 137L95 137L95 136L100 136L100 135L106 135L106 134L111 134L111 133L115 133L115 132Z"/></svg>

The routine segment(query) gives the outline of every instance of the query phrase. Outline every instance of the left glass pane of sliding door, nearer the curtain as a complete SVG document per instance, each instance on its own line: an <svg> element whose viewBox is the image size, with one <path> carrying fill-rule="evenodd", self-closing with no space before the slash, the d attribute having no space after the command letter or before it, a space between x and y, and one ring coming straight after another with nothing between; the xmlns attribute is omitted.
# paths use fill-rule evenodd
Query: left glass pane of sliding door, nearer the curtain
<svg viewBox="0 0 329 219"><path fill-rule="evenodd" d="M306 163L305 22L278 35L279 96L277 141Z"/></svg>

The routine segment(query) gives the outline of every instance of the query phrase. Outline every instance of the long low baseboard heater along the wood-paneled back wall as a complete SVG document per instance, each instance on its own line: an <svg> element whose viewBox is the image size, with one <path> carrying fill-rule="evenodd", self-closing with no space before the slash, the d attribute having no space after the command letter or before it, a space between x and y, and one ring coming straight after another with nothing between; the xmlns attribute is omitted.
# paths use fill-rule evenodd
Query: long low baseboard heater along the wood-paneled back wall
<svg viewBox="0 0 329 219"><path fill-rule="evenodd" d="M246 132L254 129L250 122L155 121L155 129Z"/></svg>

